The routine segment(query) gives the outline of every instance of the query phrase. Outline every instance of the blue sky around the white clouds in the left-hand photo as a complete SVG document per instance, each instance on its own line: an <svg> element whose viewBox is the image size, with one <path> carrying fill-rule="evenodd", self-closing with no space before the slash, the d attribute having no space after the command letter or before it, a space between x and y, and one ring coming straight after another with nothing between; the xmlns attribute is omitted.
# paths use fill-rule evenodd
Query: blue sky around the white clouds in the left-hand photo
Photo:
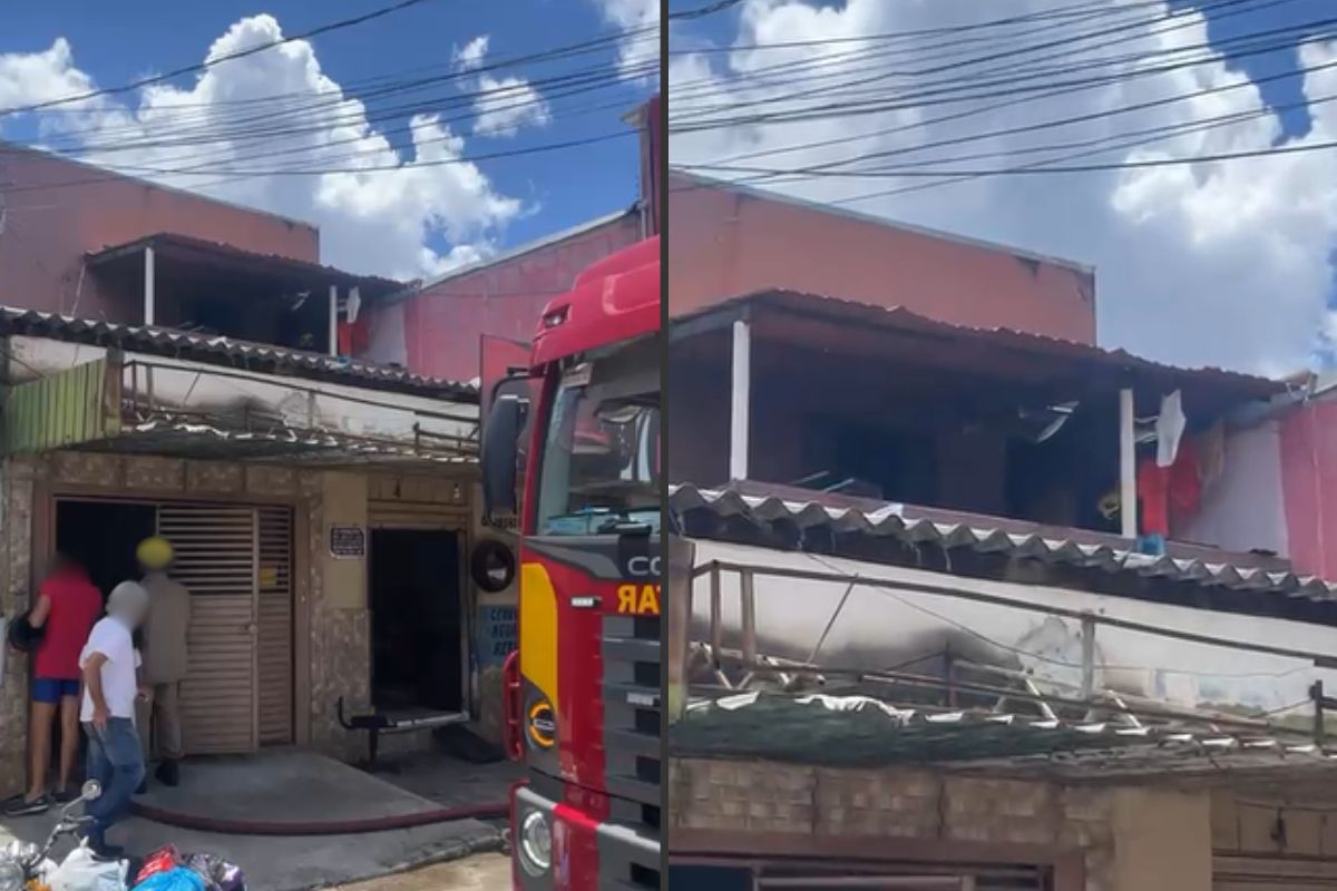
<svg viewBox="0 0 1337 891"><path fill-rule="evenodd" d="M44 51L52 40L63 36L71 43L75 64L90 73L99 87L108 87L201 61L209 45L243 16L267 12L278 19L286 35L291 35L386 4L388 0L337 4L316 0L5 3L0 4L0 53ZM507 0L495 4L432 0L317 37L314 44L324 72L340 84L348 84L396 71L448 64L452 47L484 33L489 35L489 55L496 57L574 44L610 31L598 0ZM596 59L606 61L611 72L615 55L615 49L610 48L602 56L505 73L520 73L532 80L595 64ZM610 79L615 80L611 73ZM179 84L186 87L190 80L182 77ZM631 110L647 94L648 87L628 83L600 90L590 98L572 96L554 104L552 123L547 127L525 128L507 140L469 139L464 154L630 131L619 119L622 112L615 108L583 115L567 112L618 102ZM373 104L373 114L374 110ZM405 123L394 120L390 126ZM7 124L5 136L31 138L31 123ZM404 135L392 138L397 144L402 144L404 139ZM537 207L537 212L521 214L507 224L499 247L630 206L638 194L636 152L636 140L628 135L579 150L483 162L484 174L493 179L499 192L523 199L529 208ZM439 250L444 247L440 240L437 236L435 247Z"/></svg>

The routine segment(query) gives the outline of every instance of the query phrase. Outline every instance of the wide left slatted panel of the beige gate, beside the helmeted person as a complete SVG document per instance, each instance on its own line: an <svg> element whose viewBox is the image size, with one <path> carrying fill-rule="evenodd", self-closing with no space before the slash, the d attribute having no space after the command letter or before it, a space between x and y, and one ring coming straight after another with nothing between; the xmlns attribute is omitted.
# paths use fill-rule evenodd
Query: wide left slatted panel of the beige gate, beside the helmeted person
<svg viewBox="0 0 1337 891"><path fill-rule="evenodd" d="M158 529L176 552L174 576L190 590L190 669L182 723L190 755L258 747L257 534L254 508L163 504Z"/></svg>

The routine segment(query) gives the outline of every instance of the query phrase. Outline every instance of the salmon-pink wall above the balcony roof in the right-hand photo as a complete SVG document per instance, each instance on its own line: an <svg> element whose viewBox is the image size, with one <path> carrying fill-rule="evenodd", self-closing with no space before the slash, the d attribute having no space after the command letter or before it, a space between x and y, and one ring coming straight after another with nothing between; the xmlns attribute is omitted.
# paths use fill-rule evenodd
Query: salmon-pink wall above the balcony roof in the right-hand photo
<svg viewBox="0 0 1337 891"><path fill-rule="evenodd" d="M817 207L668 179L668 307L785 289L1095 343L1095 275Z"/></svg>

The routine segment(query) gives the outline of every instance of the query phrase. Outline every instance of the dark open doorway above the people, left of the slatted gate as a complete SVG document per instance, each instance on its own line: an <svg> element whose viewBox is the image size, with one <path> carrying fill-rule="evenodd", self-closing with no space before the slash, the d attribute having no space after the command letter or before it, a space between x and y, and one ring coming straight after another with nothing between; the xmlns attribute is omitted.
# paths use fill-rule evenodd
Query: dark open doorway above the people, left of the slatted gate
<svg viewBox="0 0 1337 891"><path fill-rule="evenodd" d="M158 530L158 508L130 501L56 501L56 550L78 560L103 598L139 578L135 549Z"/></svg>

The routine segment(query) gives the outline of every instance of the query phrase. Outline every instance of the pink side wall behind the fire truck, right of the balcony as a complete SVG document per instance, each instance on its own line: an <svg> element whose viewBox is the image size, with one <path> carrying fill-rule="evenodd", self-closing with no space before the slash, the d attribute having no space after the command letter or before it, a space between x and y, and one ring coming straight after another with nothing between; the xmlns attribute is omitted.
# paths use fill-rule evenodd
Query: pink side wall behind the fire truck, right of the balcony
<svg viewBox="0 0 1337 891"><path fill-rule="evenodd" d="M365 358L400 362L451 381L479 377L484 334L528 343L543 307L587 266L640 240L640 216L628 212L596 228L463 271L408 301L368 317ZM402 338L402 350L396 341Z"/></svg>

